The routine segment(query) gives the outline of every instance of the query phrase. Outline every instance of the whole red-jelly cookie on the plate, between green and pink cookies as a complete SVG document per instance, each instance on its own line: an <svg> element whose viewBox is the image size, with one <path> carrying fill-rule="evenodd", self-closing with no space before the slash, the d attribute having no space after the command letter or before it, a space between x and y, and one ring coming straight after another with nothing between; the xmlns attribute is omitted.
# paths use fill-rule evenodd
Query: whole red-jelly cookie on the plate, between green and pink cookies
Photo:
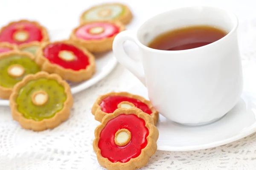
<svg viewBox="0 0 256 170"><path fill-rule="evenodd" d="M90 79L96 69L93 54L71 41L45 43L37 51L35 62L43 71L72 82Z"/></svg>

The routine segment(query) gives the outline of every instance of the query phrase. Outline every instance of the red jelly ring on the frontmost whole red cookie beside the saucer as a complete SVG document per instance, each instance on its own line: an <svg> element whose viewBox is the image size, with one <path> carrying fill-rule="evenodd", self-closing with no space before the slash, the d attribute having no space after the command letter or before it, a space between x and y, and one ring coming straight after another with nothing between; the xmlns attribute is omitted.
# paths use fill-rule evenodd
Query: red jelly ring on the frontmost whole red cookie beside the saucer
<svg viewBox="0 0 256 170"><path fill-rule="evenodd" d="M120 129L127 129L131 132L131 141L125 146L117 146L115 134ZM140 155L141 150L148 144L148 128L145 121L134 114L119 115L110 120L102 129L99 139L101 155L111 162L128 162L131 158Z"/></svg>

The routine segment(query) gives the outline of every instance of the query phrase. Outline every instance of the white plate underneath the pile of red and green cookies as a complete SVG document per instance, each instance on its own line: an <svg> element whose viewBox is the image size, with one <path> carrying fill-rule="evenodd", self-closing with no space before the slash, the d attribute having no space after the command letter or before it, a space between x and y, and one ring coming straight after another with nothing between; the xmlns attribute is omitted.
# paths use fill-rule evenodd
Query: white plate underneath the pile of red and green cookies
<svg viewBox="0 0 256 170"><path fill-rule="evenodd" d="M71 30L53 30L49 31L52 41L67 39ZM72 94L76 94L90 86L94 85L99 80L106 77L117 64L113 52L107 52L96 55L96 72L92 78L80 83L70 83ZM0 105L8 106L9 100L0 99Z"/></svg>

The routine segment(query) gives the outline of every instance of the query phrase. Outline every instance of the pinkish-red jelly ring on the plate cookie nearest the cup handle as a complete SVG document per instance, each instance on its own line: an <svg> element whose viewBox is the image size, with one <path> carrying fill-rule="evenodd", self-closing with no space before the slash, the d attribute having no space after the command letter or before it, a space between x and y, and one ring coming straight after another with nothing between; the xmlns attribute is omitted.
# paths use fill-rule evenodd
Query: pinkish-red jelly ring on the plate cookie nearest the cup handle
<svg viewBox="0 0 256 170"><path fill-rule="evenodd" d="M92 34L90 32L93 28L103 28L103 31L99 34ZM111 23L91 23L81 26L76 30L76 37L83 40L100 40L103 38L112 37L113 35L119 33L119 27Z"/></svg>

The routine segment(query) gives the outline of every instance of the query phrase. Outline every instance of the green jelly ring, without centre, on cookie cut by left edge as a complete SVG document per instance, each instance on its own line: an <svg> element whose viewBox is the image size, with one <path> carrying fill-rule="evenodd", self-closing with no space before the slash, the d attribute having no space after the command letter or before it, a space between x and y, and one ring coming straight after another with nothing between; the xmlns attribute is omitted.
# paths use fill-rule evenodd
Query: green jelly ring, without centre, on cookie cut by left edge
<svg viewBox="0 0 256 170"><path fill-rule="evenodd" d="M21 77L12 77L8 74L8 68L11 65L19 64L25 69ZM27 74L36 74L40 71L38 65L29 57L14 55L0 59L0 85L4 88L12 88L17 82L20 82Z"/></svg>

